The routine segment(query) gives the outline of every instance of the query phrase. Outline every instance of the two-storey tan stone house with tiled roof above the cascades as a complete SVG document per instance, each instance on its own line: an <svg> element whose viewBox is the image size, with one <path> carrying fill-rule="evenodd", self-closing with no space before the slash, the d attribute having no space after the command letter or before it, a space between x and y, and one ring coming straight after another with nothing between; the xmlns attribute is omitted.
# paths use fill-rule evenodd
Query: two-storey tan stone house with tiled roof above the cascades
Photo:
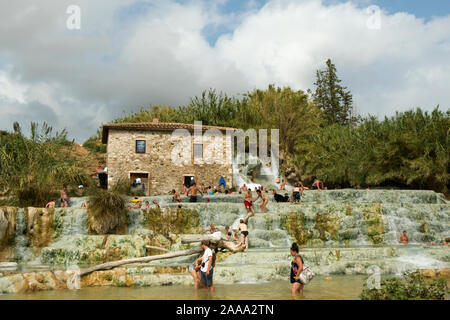
<svg viewBox="0 0 450 320"><path fill-rule="evenodd" d="M167 194L192 181L198 187L218 187L221 176L231 187L235 130L157 119L105 124L102 142L107 144L108 188L118 181L133 184L137 179L144 184L146 195Z"/></svg>

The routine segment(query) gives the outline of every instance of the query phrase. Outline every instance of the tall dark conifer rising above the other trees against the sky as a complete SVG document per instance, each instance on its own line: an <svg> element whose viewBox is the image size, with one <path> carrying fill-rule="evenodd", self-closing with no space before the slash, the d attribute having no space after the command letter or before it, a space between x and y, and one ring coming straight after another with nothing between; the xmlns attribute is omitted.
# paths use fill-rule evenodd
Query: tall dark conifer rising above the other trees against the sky
<svg viewBox="0 0 450 320"><path fill-rule="evenodd" d="M354 116L353 96L340 83L336 66L328 59L326 68L316 71L313 100L324 112L328 124L354 124L358 117Z"/></svg>

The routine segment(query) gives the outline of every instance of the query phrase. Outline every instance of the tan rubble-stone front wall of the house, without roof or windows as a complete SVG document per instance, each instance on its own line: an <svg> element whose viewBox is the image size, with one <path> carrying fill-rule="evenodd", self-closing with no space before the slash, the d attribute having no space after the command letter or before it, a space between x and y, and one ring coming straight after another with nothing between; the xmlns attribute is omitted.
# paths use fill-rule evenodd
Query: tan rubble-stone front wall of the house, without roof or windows
<svg viewBox="0 0 450 320"><path fill-rule="evenodd" d="M186 131L187 132L187 131ZM136 140L146 141L145 153L136 153ZM195 141L197 143L197 141ZM203 163L194 163L194 137L172 137L170 131L109 130L108 186L130 173L148 173L149 195L182 190L183 175L192 175L198 186L218 186L220 176L232 185L231 138L203 137ZM185 158L181 158L182 156ZM173 161L173 159L175 161ZM184 160L187 160L184 161ZM220 162L220 163L218 163Z"/></svg>

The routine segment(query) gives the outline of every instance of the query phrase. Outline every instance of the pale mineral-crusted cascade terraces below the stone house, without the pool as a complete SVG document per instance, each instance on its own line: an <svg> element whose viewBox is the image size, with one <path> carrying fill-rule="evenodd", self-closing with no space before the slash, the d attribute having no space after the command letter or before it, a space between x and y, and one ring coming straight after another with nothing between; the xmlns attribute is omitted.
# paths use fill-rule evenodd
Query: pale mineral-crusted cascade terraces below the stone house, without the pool
<svg viewBox="0 0 450 320"><path fill-rule="evenodd" d="M253 193L256 196L256 193ZM289 263L288 247L298 241L290 226L292 217L299 223L296 228L307 232L308 239L302 243L302 255L314 265L320 274L364 273L368 265L381 263L383 272L397 273L403 269L448 267L444 247L420 248L423 242L442 241L450 237L450 206L442 203L441 195L431 191L391 191L391 190L328 190L305 191L302 203L276 203L269 197L267 213L261 213L255 204L255 216L248 221L249 251L227 258L228 265L237 264L243 268L242 280L251 281L255 274L246 275L245 266L264 274L264 268L274 268ZM142 197L152 203L156 200L161 207L176 208L170 195ZM182 196L182 208L198 212L199 225L206 228L210 223L218 227L227 225L236 229L239 220L244 218L247 210L243 205L242 195L217 194L199 197L198 203L189 203ZM205 203L205 199L210 199ZM74 199L75 200L75 199ZM131 200L129 198L128 200ZM93 263L96 257L119 250L127 257L145 255L143 235L150 235L146 229L143 215L139 210L128 213L126 235L109 236L105 247L103 236L88 234L86 209L81 208L80 201L74 201L77 207L57 208L53 215L54 239L42 248L40 263L48 265L72 264L77 261ZM297 217L297 218L296 218ZM322 219L322 220L321 220ZM398 245L398 237L406 230L412 246ZM310 239L310 234L313 238ZM29 236L29 235L28 235ZM172 250L179 250L183 247ZM109 247L108 247L109 246ZM113 250L111 250L113 249ZM18 262L35 263L27 237L26 215L23 209L17 212L14 250ZM109 251L108 251L109 250ZM447 249L448 250L448 249ZM336 251L341 252L338 261ZM235 256L233 258L233 256ZM124 257L122 257L124 258ZM187 260L186 260L187 259ZM185 258L166 263L188 263ZM99 260L101 261L101 260ZM181 262L180 262L181 261ZM364 261L362 263L361 261ZM228 268L228 267L227 267ZM234 267L229 270L233 271ZM223 268L225 270L226 268ZM259 270L259 271L258 271ZM280 269L281 270L281 269ZM234 271L233 271L234 272ZM241 271L239 271L241 272ZM236 273L236 277L240 273ZM273 272L271 271L273 276ZM278 272L278 271L277 271ZM280 271L281 272L281 271ZM258 273L258 276L261 276ZM263 278L264 279L264 278Z"/></svg>

